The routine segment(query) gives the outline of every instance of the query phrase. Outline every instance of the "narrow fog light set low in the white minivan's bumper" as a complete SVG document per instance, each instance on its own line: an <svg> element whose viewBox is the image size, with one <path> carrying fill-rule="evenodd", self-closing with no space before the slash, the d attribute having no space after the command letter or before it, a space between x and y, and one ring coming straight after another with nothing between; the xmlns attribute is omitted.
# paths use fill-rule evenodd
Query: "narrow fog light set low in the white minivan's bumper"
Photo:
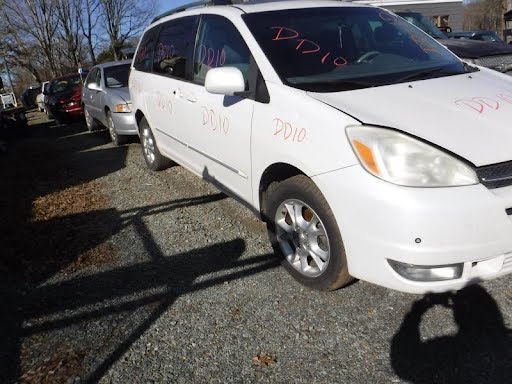
<svg viewBox="0 0 512 384"><path fill-rule="evenodd" d="M450 265L413 265L389 260L389 265L400 276L413 281L443 281L458 279L462 276L464 264Z"/></svg>

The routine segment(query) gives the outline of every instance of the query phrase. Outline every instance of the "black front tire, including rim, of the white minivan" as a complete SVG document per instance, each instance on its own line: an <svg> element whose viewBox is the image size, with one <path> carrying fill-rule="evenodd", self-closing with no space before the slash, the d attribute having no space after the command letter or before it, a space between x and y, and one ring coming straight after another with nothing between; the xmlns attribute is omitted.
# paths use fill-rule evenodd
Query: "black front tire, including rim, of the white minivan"
<svg viewBox="0 0 512 384"><path fill-rule="evenodd" d="M354 280L336 219L311 179L298 175L271 184L265 193L264 216L272 247L295 280L319 291L332 291Z"/></svg>

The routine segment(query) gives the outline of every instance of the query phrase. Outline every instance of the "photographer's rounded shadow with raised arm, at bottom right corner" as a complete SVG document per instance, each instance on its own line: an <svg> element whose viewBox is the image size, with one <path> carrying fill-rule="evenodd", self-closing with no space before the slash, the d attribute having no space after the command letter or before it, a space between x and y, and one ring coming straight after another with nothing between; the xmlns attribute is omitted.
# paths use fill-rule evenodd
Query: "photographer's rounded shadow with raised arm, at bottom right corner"
<svg viewBox="0 0 512 384"><path fill-rule="evenodd" d="M458 333L422 339L421 321L435 306L450 308ZM512 377L512 333L494 299L480 285L416 301L393 337L391 362L414 384L506 383Z"/></svg>

